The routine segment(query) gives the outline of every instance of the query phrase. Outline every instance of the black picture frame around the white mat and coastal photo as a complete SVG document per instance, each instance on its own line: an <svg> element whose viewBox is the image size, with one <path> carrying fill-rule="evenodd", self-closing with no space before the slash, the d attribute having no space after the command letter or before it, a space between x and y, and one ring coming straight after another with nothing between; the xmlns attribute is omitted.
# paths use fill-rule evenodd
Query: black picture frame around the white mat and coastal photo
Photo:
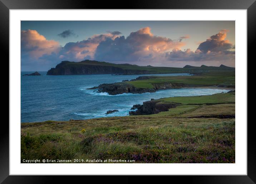
<svg viewBox="0 0 256 184"><path fill-rule="evenodd" d="M5 62L9 61L10 9L113 9L113 7L115 9L247 9L247 58L248 60L255 60L255 57L253 57L253 42L255 42L256 37L255 0L128 0L125 2L111 1L111 3L109 3L109 1L103 2L85 0L0 0L0 43L2 46L2 56L5 56ZM9 69L9 65L7 67ZM179 181L187 180L189 183L255 183L256 143L253 123L254 122L247 123L247 175L171 176L171 179L178 179ZM60 178L57 176L9 175L9 126L5 122L2 122L1 126L4 131L1 131L0 133L0 182L60 183ZM74 182L74 176L71 176L71 178L69 177L61 176L62 180L65 180L65 182ZM79 177L80 178L78 179L80 180L83 176ZM89 176L87 176L87 179L88 177ZM118 180L120 181L119 178L114 176L107 177L107 180L113 180L113 182ZM105 179L105 181L107 180ZM136 180L136 178L129 178L125 180L122 179L122 181L127 181L129 183L133 182L134 180ZM152 178L147 177L147 180L152 180Z"/></svg>

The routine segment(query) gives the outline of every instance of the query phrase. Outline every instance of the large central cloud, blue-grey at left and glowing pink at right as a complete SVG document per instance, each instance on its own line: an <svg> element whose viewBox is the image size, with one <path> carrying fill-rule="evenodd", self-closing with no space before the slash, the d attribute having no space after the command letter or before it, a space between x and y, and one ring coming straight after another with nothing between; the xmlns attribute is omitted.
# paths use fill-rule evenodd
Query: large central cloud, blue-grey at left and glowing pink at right
<svg viewBox="0 0 256 184"><path fill-rule="evenodd" d="M95 51L95 60L99 61L143 61L154 59L170 49L184 44L166 37L154 36L150 27L144 27L125 38L106 39L100 42Z"/></svg>

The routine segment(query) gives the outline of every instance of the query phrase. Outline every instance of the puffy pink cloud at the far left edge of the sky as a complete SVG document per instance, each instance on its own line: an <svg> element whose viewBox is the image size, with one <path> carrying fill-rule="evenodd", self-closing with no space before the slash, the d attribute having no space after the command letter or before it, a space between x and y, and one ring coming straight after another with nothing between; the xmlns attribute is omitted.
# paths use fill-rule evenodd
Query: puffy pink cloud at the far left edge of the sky
<svg viewBox="0 0 256 184"><path fill-rule="evenodd" d="M44 54L59 52L59 42L46 40L36 30L21 31L21 52L31 58L39 58Z"/></svg>

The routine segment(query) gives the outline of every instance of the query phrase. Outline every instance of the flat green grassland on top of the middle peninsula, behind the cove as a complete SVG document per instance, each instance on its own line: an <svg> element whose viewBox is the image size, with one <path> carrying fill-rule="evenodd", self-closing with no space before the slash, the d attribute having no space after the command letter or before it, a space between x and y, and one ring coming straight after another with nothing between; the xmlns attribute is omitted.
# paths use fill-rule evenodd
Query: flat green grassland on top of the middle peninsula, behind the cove
<svg viewBox="0 0 256 184"><path fill-rule="evenodd" d="M206 72L195 76L158 76L148 80L127 82L136 88L154 88L156 83L183 83L201 86L228 86L235 87L235 71Z"/></svg>

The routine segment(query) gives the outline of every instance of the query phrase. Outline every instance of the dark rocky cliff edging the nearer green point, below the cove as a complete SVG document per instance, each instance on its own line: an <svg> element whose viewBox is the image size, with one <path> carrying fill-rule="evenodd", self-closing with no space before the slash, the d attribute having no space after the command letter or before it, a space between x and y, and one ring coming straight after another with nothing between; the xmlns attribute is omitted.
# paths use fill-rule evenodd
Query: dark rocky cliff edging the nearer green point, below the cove
<svg viewBox="0 0 256 184"><path fill-rule="evenodd" d="M168 111L170 108L175 108L180 103L163 103L159 100L151 100L143 102L143 105L139 106L136 111L130 111L130 115L147 115L157 114L159 112Z"/></svg>

